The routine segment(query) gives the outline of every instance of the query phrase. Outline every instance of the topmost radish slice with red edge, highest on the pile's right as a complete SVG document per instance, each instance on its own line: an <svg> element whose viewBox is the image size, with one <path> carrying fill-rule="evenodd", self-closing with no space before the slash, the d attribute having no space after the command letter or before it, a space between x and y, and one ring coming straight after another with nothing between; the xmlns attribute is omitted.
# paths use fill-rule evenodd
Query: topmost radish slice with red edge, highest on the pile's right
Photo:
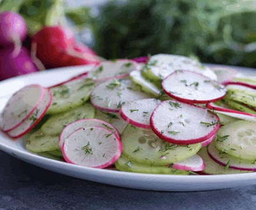
<svg viewBox="0 0 256 210"><path fill-rule="evenodd" d="M222 84L195 72L179 70L162 81L163 91L179 101L206 104L218 101L226 94Z"/></svg>

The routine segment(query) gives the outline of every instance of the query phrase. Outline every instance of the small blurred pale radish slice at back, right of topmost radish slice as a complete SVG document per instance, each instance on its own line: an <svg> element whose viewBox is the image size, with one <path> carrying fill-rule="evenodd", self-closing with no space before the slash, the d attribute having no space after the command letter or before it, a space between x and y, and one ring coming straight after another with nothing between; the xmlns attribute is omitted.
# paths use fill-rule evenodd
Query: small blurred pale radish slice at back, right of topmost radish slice
<svg viewBox="0 0 256 210"><path fill-rule="evenodd" d="M217 75L218 82L222 84L231 81L237 74L237 70L230 67L211 66L211 69L214 70Z"/></svg>

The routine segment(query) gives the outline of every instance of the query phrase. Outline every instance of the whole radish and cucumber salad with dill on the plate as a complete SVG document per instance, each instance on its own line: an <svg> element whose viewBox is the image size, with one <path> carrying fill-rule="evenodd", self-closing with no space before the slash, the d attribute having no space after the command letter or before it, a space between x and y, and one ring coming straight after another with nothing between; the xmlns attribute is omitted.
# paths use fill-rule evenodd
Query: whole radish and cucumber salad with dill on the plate
<svg viewBox="0 0 256 210"><path fill-rule="evenodd" d="M184 56L108 60L55 86L23 87L0 127L30 152L81 166L254 172L255 88L254 77Z"/></svg>

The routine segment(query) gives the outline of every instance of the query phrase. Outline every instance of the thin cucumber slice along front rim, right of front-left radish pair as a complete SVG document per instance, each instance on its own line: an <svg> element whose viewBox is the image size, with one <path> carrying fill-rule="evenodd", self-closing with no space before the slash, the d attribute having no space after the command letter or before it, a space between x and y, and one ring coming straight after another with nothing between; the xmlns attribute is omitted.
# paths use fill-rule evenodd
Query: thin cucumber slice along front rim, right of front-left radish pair
<svg viewBox="0 0 256 210"><path fill-rule="evenodd" d="M116 169L124 172L135 173L154 173L154 174L167 174L167 175L189 175L186 170L176 170L168 166L154 166L130 160L125 155L120 156L118 161L115 162Z"/></svg>

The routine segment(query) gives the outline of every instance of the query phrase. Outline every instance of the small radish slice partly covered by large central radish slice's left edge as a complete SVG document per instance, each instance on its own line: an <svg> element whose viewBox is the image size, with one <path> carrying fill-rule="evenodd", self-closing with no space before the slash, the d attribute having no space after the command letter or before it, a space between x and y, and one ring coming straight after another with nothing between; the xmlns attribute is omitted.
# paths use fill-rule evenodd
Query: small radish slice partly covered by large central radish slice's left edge
<svg viewBox="0 0 256 210"><path fill-rule="evenodd" d="M127 102L120 109L120 116L128 123L142 129L151 129L150 117L161 101L155 98Z"/></svg>

